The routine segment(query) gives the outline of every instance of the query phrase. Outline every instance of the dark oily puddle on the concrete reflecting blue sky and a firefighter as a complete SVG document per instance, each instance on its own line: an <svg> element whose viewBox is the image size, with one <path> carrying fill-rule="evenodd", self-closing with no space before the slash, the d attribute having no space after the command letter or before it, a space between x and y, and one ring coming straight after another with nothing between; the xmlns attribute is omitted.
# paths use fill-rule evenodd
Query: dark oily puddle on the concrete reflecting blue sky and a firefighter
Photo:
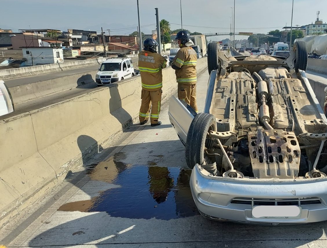
<svg viewBox="0 0 327 248"><path fill-rule="evenodd" d="M92 180L119 185L91 200L62 205L59 211L107 212L113 217L170 220L198 215L191 194L191 170L128 165L111 157L87 174Z"/></svg>

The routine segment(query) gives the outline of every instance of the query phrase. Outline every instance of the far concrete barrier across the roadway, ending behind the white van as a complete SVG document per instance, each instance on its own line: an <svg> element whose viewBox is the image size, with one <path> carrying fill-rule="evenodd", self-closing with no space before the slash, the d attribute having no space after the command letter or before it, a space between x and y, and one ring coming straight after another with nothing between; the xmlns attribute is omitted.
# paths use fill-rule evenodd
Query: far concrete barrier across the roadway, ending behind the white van
<svg viewBox="0 0 327 248"><path fill-rule="evenodd" d="M38 75L42 73L64 71L72 68L101 64L105 60L106 58L97 58L97 59L89 59L89 60L77 60L77 61L69 61L63 63L5 69L5 70L0 70L0 79L9 80L9 79L22 78L32 75Z"/></svg>

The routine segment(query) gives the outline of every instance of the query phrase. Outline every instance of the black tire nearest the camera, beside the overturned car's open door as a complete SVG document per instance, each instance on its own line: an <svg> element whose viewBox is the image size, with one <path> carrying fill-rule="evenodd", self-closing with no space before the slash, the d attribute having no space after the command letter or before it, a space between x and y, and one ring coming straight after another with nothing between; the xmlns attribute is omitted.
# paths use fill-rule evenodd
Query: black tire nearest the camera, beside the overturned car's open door
<svg viewBox="0 0 327 248"><path fill-rule="evenodd" d="M196 164L206 163L204 150L209 130L217 131L215 116L207 113L196 115L186 137L185 159L188 168L193 169Z"/></svg>

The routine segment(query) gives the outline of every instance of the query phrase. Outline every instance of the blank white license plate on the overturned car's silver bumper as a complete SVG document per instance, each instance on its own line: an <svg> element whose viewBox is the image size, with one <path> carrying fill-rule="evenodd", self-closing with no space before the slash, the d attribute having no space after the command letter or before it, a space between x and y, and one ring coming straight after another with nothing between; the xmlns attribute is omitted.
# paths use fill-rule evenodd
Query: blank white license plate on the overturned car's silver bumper
<svg viewBox="0 0 327 248"><path fill-rule="evenodd" d="M298 206L255 206L252 217L261 219L299 219L301 207Z"/></svg>

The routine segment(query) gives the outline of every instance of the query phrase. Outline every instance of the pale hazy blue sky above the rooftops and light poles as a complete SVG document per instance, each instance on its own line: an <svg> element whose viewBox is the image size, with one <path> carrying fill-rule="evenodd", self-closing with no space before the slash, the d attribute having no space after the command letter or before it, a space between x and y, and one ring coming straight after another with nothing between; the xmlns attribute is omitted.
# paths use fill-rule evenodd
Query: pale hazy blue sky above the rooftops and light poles
<svg viewBox="0 0 327 248"><path fill-rule="evenodd" d="M67 28L94 30L112 29L112 34L129 34L136 30L136 0L0 0L0 28L41 29ZM233 0L181 0L183 27L201 33L229 32ZM179 0L139 0L141 26L144 33L155 29L155 9L160 19L181 27ZM268 8L269 7L269 8ZM268 9L268 10L267 10ZM319 19L327 22L327 1L294 0L293 26L311 24ZM235 0L235 32L267 33L291 24L292 0ZM194 26L194 27L193 27ZM197 26L197 27L195 27ZM125 30L114 30L114 29ZM130 28L130 29L127 29ZM220 36L217 39L228 38ZM241 39L244 37L235 37ZM247 38L247 37L245 37Z"/></svg>

